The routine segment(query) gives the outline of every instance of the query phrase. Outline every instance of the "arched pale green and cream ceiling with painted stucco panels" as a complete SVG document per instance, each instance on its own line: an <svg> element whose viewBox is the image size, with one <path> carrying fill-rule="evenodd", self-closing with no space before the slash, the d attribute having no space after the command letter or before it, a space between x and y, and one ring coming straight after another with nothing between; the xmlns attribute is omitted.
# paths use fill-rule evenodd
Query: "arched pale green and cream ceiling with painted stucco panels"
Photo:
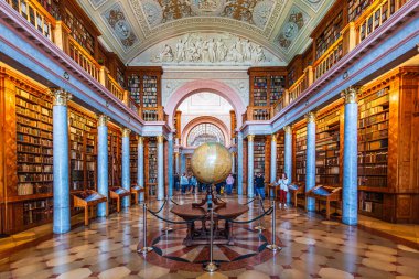
<svg viewBox="0 0 419 279"><path fill-rule="evenodd" d="M147 56L151 64L176 61L174 42L184 43L191 34L195 37L204 34L201 40L206 43L227 40L226 36L240 44L249 40L253 57L248 63L257 62L259 49L266 57L275 56L267 61L278 65L287 64L305 50L311 31L333 0L78 0L78 3L100 30L103 43L125 63L136 57L138 62L140 54L157 45L158 58L155 53ZM168 40L171 43L164 43ZM235 43L228 45L228 40L227 50L235 47ZM226 54L225 60L244 62L246 57Z"/></svg>

